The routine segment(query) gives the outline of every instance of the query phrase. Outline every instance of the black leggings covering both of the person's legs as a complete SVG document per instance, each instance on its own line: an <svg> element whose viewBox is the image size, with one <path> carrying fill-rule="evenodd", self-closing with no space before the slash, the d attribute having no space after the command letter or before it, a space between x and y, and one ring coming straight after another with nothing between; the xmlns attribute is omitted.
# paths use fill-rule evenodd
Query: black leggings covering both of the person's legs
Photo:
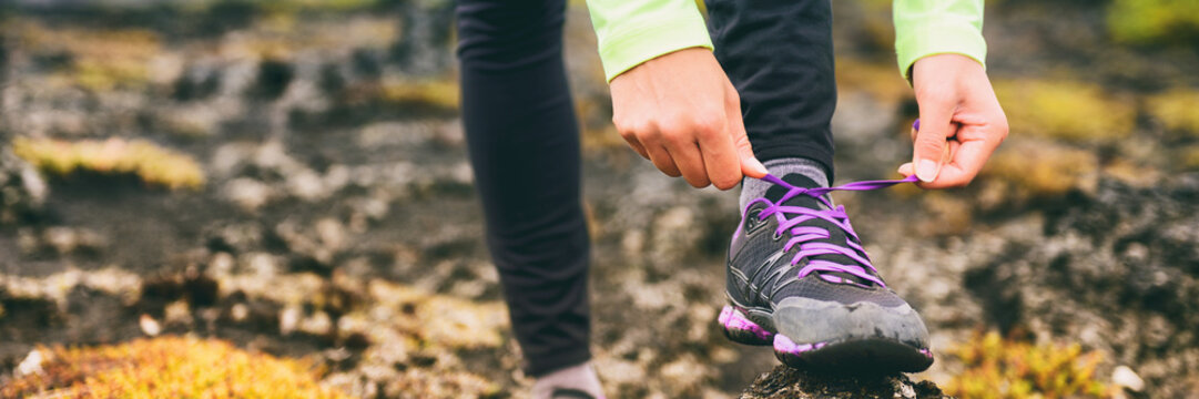
<svg viewBox="0 0 1199 399"><path fill-rule="evenodd" d="M463 123L487 243L534 376L591 356L590 242L562 61L565 7L564 0L457 5ZM831 175L829 0L709 0L707 7L717 59L741 93L759 159L806 157Z"/></svg>

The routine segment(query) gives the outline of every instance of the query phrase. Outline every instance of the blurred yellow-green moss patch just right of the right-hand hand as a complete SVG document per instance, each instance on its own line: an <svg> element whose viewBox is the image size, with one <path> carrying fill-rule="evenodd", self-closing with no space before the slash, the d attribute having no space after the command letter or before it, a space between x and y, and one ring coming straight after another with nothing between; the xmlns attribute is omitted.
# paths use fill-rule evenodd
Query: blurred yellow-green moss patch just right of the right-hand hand
<svg viewBox="0 0 1199 399"><path fill-rule="evenodd" d="M1132 134L1135 105L1097 85L1052 81L996 81L995 93L1007 114L1012 135L1068 141L1113 141Z"/></svg>

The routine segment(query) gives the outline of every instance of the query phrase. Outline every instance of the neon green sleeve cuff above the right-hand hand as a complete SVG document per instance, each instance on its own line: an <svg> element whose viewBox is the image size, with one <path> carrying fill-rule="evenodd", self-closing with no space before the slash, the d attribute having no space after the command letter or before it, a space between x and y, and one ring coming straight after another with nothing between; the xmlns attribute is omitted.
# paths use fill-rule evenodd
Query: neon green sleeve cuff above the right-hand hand
<svg viewBox="0 0 1199 399"><path fill-rule="evenodd" d="M896 54L899 72L909 75L916 60L954 53L987 65L982 38L983 0L894 0Z"/></svg>

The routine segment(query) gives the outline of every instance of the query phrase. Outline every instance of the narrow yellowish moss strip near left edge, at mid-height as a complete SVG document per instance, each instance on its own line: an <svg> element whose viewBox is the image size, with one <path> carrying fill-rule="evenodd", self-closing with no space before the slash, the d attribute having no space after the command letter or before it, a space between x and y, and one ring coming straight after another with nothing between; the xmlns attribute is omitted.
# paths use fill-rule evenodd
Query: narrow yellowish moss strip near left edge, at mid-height
<svg viewBox="0 0 1199 399"><path fill-rule="evenodd" d="M17 138L13 152L40 170L67 176L76 171L132 174L152 186L171 189L204 186L204 171L191 156L150 141L110 138L104 141L62 141Z"/></svg>

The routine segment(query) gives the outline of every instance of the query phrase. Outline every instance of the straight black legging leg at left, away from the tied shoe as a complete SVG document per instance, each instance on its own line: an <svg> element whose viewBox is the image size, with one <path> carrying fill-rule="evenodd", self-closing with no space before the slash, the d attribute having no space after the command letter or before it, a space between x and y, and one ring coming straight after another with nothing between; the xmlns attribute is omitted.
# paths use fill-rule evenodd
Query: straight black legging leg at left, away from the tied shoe
<svg viewBox="0 0 1199 399"><path fill-rule="evenodd" d="M540 375L591 357L565 0L459 0L462 113L512 330Z"/></svg>

